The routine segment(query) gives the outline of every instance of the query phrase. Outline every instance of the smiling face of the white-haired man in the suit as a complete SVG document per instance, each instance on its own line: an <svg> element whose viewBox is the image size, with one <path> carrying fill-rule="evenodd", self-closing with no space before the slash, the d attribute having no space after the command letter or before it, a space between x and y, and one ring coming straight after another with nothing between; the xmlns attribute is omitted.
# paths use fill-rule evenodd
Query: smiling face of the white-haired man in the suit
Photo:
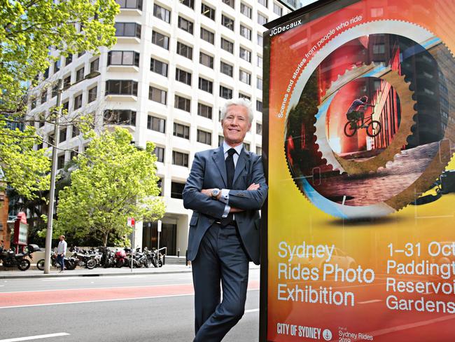
<svg viewBox="0 0 455 342"><path fill-rule="evenodd" d="M248 110L244 106L232 104L228 107L225 118L221 121L225 142L237 146L244 141L246 132L250 130Z"/></svg>

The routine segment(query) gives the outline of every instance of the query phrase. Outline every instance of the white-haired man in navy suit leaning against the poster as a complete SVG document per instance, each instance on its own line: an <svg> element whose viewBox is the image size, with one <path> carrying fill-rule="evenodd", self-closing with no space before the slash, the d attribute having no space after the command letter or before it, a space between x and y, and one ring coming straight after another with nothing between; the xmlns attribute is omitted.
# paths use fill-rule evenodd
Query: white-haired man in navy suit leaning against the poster
<svg viewBox="0 0 455 342"><path fill-rule="evenodd" d="M195 153L183 190L183 205L193 210L188 259L195 287L194 342L221 341L244 314L248 262L259 264L259 210L267 197L262 160L243 146L253 121L251 102L228 100L221 114L224 142Z"/></svg>

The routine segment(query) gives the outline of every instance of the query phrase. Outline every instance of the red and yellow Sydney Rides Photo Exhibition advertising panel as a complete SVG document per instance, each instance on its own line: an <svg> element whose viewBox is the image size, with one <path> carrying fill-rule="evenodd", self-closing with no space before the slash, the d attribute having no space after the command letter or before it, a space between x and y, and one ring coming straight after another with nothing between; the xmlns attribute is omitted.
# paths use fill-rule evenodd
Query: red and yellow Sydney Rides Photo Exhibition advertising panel
<svg viewBox="0 0 455 342"><path fill-rule="evenodd" d="M268 24L261 341L455 340L455 2Z"/></svg>

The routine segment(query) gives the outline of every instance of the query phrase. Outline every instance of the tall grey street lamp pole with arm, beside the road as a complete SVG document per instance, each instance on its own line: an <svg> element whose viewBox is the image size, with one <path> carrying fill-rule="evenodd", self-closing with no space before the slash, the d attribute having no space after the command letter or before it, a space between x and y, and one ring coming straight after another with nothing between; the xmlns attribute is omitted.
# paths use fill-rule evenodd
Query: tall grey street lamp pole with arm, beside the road
<svg viewBox="0 0 455 342"><path fill-rule="evenodd" d="M57 175L57 144L59 142L60 130L58 127L59 116L60 116L60 104L62 101L62 92L69 89L70 87L85 81L90 78L99 76L98 71L92 71L90 74L87 74L84 78L79 81L69 84L62 89L62 78L57 80L57 103L56 107L58 108L57 116L55 116L54 122L54 147L52 148L52 159L50 162L50 190L49 190L49 205L48 205L48 229L45 234L45 258L44 258L44 273L48 274L50 271L50 249L52 247L52 220L54 216L54 200L55 200L55 176Z"/></svg>

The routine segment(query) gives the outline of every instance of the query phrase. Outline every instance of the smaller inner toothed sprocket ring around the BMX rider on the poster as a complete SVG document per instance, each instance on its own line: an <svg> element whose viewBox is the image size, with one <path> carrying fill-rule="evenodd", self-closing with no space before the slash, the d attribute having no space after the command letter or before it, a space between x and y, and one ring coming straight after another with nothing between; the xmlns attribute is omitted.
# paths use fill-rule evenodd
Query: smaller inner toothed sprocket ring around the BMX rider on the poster
<svg viewBox="0 0 455 342"><path fill-rule="evenodd" d="M398 132L390 145L384 151L365 161L346 160L337 156L328 143L325 135L325 122L328 104L335 97L337 92L347 83L362 77L376 77L387 81L398 93L401 104L401 122ZM349 175L360 175L370 171L375 171L379 167L385 167L386 163L393 160L397 153L400 153L402 146L407 145L407 137L412 135L412 125L414 125L414 104L412 100L412 91L409 90L409 83L404 81L405 76L400 76L397 71L393 71L391 67L384 67L383 64L363 64L360 67L353 67L346 70L346 72L338 76L337 80L332 82L328 90L325 92L323 103L318 107L319 111L316 115L316 144L318 150L321 151L322 157L327 160L328 165L332 165L333 170L339 172L347 172Z"/></svg>

